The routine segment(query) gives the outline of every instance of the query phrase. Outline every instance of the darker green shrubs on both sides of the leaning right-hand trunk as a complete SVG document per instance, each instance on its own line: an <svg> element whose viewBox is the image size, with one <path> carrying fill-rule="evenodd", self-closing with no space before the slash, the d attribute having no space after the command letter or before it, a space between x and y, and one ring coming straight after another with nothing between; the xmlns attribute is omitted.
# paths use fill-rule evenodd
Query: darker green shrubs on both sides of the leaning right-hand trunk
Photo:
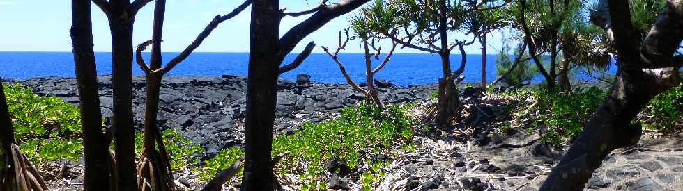
<svg viewBox="0 0 683 191"><path fill-rule="evenodd" d="M673 133L683 128L683 85L654 97L634 122L652 131ZM599 88L558 92L519 89L503 92L503 97L516 99L508 108L511 120L501 128L524 128L537 131L541 141L563 147L583 131L583 126L606 96Z"/></svg>

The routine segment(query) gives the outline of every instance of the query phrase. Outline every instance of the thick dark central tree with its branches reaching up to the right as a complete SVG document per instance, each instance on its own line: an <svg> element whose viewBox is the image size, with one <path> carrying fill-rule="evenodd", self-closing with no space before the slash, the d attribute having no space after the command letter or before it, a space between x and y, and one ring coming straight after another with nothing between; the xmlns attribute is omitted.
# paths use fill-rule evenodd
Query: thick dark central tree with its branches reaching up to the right
<svg viewBox="0 0 683 191"><path fill-rule="evenodd" d="M335 17L362 6L369 0L341 0L298 12L280 9L279 0L252 1L249 71L247 72L247 111L245 115L245 167L242 190L275 190L273 173L273 124L277 101L277 78L295 69L309 55L315 44L310 42L292 63L281 66L284 57L307 35ZM311 15L312 14L312 15ZM311 15L280 37L283 17Z"/></svg>

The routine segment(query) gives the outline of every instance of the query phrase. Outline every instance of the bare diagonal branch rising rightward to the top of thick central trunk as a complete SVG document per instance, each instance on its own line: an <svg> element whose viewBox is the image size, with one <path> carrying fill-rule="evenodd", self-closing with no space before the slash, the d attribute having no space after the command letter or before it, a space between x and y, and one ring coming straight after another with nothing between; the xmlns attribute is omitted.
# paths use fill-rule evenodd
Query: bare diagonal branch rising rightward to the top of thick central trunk
<svg viewBox="0 0 683 191"><path fill-rule="evenodd" d="M201 33L199 33L199 35L197 35L197 38L194 39L192 44L185 47L183 52L181 52L178 56L176 56L176 58L173 58L173 60L169 61L169 63L166 66L164 66L160 69L154 70L153 73L166 74L167 72L171 71L171 69L173 69L173 67L176 67L176 65L178 65L178 63L181 63L183 60L185 60L185 58L187 58L187 56L190 56L190 53L192 53L192 51L194 51L194 49L197 49L197 47L199 47L201 42L203 42L204 39L207 38L208 35L211 34L213 29L218 27L218 24L226 21L227 19L231 19L232 17L235 17L236 15L241 13L243 10L245 10L245 8L247 8L247 6L249 6L251 3L252 3L251 0L247 0L244 3L242 3L240 6L235 8L231 13L228 13L228 15L224 15L224 16L216 15L216 17L213 17L213 20L211 20L211 22L206 26L206 28L204 28L204 31L201 31Z"/></svg>

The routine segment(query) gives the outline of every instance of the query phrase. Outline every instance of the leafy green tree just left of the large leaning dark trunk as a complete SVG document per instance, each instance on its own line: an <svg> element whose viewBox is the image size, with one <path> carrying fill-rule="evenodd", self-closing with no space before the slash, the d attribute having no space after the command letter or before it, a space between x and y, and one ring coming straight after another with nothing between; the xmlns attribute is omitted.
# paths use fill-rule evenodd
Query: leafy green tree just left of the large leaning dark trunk
<svg viewBox="0 0 683 191"><path fill-rule="evenodd" d="M555 89L559 83L561 90L571 90L569 70L574 66L609 66L611 58L602 38L604 32L588 24L583 1L518 1L510 10L515 17L514 27L521 31L548 89ZM539 58L544 54L550 58Z"/></svg>

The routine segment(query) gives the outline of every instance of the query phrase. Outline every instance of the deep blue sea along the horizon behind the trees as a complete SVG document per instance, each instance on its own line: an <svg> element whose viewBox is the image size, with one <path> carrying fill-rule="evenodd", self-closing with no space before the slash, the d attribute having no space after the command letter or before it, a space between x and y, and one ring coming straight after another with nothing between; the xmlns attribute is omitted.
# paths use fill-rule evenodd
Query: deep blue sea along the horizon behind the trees
<svg viewBox="0 0 683 191"><path fill-rule="evenodd" d="M143 53L149 58L148 53ZM162 53L164 63L174 58L178 53ZM296 58L296 53L286 57L284 64ZM192 53L182 63L178 64L169 76L220 76L222 74L247 75L248 53ZM340 53L339 59L344 63L346 71L357 82L364 78L364 56L362 53ZM374 60L374 66L381 61ZM112 54L106 52L95 53L98 74L112 73ZM451 67L456 69L460 65L461 56L451 56ZM481 55L468 54L465 81L477 83L481 81ZM284 65L283 64L283 65ZM142 72L133 65L135 75ZM611 67L615 70L616 67ZM613 72L612 72L613 73ZM297 74L309 74L311 80L322 83L346 83L339 67L325 53L312 53L305 61L290 72L282 74L280 78L296 79ZM2 78L35 78L35 77L73 77L75 69L73 56L70 52L0 52L0 77ZM440 58L436 54L400 53L394 54L391 61L376 74L376 78L392 81L399 85L435 83L441 76ZM486 78L494 81L496 74L496 55L486 56ZM585 74L578 74L578 78L590 79ZM540 78L537 78L540 80ZM535 80L536 81L536 80Z"/></svg>

